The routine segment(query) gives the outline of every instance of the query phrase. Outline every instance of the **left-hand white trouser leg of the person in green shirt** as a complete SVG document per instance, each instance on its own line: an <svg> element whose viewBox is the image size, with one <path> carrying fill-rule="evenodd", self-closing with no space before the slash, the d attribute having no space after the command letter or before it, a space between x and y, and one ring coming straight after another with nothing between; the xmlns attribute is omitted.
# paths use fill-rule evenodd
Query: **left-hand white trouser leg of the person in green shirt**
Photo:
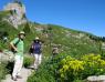
<svg viewBox="0 0 105 82"><path fill-rule="evenodd" d="M14 68L13 68L13 72L12 72L12 78L14 78L14 79L17 78L19 64L20 64L20 58L19 58L19 55L15 55L14 57Z"/></svg>

